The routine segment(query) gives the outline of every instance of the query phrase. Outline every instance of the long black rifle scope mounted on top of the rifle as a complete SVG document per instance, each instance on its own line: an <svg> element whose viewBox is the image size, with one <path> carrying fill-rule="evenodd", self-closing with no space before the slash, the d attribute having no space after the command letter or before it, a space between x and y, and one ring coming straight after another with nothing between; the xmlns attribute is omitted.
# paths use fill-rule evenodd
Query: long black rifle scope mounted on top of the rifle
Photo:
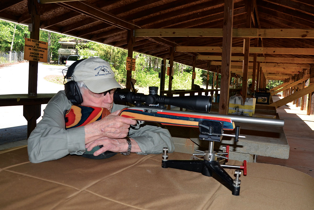
<svg viewBox="0 0 314 210"><path fill-rule="evenodd" d="M164 108L166 105L178 106L181 108L209 113L212 106L212 97L205 95L190 95L190 96L160 96L158 87L149 87L149 95L143 93L130 92L128 89L117 89L113 95L113 100L116 103L128 102L136 106L159 105Z"/></svg>

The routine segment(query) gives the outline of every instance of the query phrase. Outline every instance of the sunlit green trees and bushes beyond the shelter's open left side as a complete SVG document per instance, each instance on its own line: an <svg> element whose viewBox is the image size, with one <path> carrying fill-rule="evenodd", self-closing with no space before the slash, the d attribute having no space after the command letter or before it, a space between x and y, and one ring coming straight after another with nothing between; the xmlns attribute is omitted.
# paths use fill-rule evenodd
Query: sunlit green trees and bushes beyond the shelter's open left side
<svg viewBox="0 0 314 210"><path fill-rule="evenodd" d="M0 20L0 51L9 51L10 44L12 42L14 32L14 23L1 21ZM24 51L24 37L29 37L27 26L17 25L14 37L13 50ZM41 41L48 42L48 31L40 30ZM58 60L58 49L61 44L58 43L59 40L62 41L73 41L77 38L68 37L62 34L51 32L51 60ZM76 49L78 49L78 54L83 55L85 58L90 56L100 56L109 62L112 70L115 73L116 80L122 84L126 84L126 58L127 50L120 49L116 47L111 47L105 44L87 42L86 40L78 39L78 44ZM85 45L85 43L87 43ZM149 86L160 87L160 66L162 59L148 56L145 54L139 54L133 52L133 58L136 59L135 71L132 71L132 78L136 79L136 85L139 87L147 88ZM169 61L166 61L166 66L169 66ZM192 67L186 66L179 63L173 64L173 80L172 89L191 89L192 84ZM194 84L202 86L206 84L207 72L201 69L195 69L196 78L194 79ZM53 79L51 79L53 80ZM55 82L58 79L56 79ZM165 90L168 89L169 76L165 76ZM62 80L63 82L63 80ZM209 85L211 84L211 75Z"/></svg>

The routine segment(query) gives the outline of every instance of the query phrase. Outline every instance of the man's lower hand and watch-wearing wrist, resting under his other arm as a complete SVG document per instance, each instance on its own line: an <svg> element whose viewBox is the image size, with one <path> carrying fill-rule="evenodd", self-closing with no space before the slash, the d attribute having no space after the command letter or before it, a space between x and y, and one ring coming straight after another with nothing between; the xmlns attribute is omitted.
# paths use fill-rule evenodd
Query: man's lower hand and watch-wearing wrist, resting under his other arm
<svg viewBox="0 0 314 210"><path fill-rule="evenodd" d="M140 148L138 147L138 144L133 139L131 140L131 151L132 152L140 152ZM87 151L91 151L95 146L102 145L99 150L94 152L94 156L98 156L101 153L105 151L112 151L112 152L126 152L128 148L128 143L126 139L112 139L107 137L102 137L100 139L97 139L95 141L92 141L85 145L85 148Z"/></svg>

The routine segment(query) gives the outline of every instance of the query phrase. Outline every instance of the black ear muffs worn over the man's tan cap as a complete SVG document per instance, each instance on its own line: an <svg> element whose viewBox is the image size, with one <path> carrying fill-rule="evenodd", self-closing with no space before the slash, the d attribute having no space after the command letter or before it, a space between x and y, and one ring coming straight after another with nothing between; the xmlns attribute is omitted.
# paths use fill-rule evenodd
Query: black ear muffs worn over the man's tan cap
<svg viewBox="0 0 314 210"><path fill-rule="evenodd" d="M68 68L67 74L64 76L64 80L65 79L71 79L74 68L76 67L77 64L79 64L83 60L85 60L85 59L75 61ZM79 105L79 104L83 103L81 91L79 90L79 87L74 80L68 81L67 83L64 84L64 91L65 91L65 95L67 96L68 100L70 100L72 104Z"/></svg>

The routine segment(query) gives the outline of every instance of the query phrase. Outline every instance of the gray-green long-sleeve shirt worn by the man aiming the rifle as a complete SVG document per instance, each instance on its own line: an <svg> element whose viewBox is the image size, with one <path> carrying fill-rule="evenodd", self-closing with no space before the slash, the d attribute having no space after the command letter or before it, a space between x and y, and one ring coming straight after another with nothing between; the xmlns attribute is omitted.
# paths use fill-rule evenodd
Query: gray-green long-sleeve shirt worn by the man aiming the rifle
<svg viewBox="0 0 314 210"><path fill-rule="evenodd" d="M82 155L85 152L84 126L65 129L64 115L71 106L64 90L48 102L42 120L28 138L28 156L31 162L56 160L68 154ZM111 111L125 107L113 104ZM174 151L169 131L160 126L144 125L139 129L131 127L128 136L138 143L142 151L138 154L159 154L163 147L168 147L169 152Z"/></svg>

